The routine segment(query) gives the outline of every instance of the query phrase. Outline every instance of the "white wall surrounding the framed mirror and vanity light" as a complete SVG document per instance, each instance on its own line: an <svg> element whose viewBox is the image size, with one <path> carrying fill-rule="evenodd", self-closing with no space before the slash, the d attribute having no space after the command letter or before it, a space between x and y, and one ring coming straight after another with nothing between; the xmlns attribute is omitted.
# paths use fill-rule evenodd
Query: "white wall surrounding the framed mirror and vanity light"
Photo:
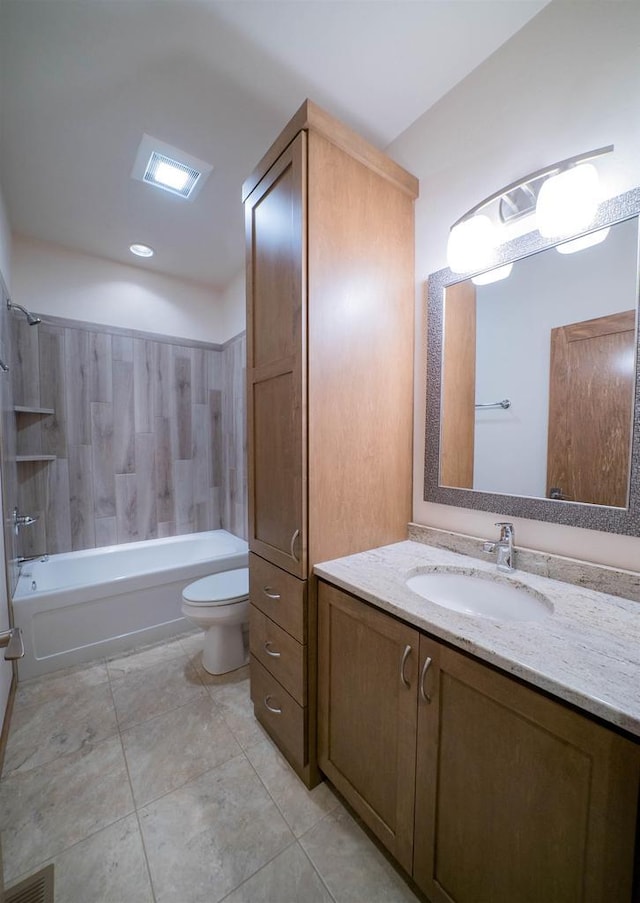
<svg viewBox="0 0 640 903"><path fill-rule="evenodd" d="M388 148L420 179L416 206L414 519L494 537L496 518L423 500L424 283L446 265L450 225L501 186L606 144L610 196L640 185L640 3L553 0ZM428 52L428 46L425 46ZM640 538L514 519L520 545L639 568Z"/></svg>

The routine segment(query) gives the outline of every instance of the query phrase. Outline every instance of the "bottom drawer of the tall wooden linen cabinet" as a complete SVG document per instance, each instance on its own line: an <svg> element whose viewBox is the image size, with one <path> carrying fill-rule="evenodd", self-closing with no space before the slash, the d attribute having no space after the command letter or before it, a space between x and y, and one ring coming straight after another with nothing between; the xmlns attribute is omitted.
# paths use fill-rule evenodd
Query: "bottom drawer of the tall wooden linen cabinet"
<svg viewBox="0 0 640 903"><path fill-rule="evenodd" d="M307 709L251 656L251 701L256 718L300 768L307 761Z"/></svg>

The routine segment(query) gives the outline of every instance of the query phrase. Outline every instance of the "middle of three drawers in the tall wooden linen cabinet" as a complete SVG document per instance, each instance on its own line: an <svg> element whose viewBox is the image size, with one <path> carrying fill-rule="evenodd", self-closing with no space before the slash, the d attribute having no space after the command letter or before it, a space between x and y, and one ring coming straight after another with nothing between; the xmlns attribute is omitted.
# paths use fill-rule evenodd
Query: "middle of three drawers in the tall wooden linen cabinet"
<svg viewBox="0 0 640 903"><path fill-rule="evenodd" d="M307 701L307 647L278 627L255 605L249 621L251 653L280 681L299 705Z"/></svg>

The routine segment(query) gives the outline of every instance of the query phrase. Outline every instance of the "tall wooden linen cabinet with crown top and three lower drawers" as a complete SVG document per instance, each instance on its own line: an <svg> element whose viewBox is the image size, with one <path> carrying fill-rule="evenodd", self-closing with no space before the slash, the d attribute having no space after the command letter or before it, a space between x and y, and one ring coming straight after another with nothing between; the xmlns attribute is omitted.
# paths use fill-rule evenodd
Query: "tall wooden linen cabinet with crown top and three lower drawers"
<svg viewBox="0 0 640 903"><path fill-rule="evenodd" d="M310 101L243 186L251 697L308 786L313 565L405 539L411 515L417 189Z"/></svg>

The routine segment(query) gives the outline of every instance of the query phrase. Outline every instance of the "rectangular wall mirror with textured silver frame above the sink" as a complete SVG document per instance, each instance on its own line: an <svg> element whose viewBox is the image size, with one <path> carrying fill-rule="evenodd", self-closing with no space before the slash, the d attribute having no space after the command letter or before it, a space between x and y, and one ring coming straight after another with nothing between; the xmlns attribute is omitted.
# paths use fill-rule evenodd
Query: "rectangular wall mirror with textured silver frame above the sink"
<svg viewBox="0 0 640 903"><path fill-rule="evenodd" d="M429 278L427 501L640 534L639 213L606 202L574 253L515 239L500 281Z"/></svg>

